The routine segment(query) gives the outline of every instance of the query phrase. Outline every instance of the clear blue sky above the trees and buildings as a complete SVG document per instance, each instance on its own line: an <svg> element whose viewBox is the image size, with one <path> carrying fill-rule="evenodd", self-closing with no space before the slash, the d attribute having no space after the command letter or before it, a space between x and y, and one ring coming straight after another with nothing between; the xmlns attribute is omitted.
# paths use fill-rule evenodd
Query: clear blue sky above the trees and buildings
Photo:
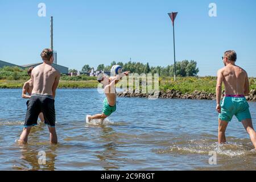
<svg viewBox="0 0 256 182"><path fill-rule="evenodd" d="M46 4L46 17L38 4ZM208 15L216 3L217 17ZM237 51L237 64L256 77L255 0L3 1L0 0L0 60L14 64L41 61L49 47L49 19L54 18L58 64L81 70L112 61L166 66L174 63L172 25L176 18L176 61L195 60L199 75L216 75L221 56Z"/></svg>

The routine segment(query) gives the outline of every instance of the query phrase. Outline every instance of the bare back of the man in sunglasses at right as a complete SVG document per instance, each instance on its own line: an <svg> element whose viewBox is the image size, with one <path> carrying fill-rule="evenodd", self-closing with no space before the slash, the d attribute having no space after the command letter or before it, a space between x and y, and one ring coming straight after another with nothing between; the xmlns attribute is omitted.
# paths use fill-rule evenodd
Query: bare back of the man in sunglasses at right
<svg viewBox="0 0 256 182"><path fill-rule="evenodd" d="M226 95L244 95L247 73L237 65L227 65L221 70Z"/></svg>

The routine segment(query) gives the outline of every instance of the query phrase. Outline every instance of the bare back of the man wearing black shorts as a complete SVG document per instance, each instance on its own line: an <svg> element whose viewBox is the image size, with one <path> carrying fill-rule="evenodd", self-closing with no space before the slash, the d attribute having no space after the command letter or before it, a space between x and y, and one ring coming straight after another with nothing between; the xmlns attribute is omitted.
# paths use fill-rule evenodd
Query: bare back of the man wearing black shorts
<svg viewBox="0 0 256 182"><path fill-rule="evenodd" d="M35 67L32 71L32 82L34 85L32 94L52 96L52 87L59 75L60 73L51 65L43 63Z"/></svg>

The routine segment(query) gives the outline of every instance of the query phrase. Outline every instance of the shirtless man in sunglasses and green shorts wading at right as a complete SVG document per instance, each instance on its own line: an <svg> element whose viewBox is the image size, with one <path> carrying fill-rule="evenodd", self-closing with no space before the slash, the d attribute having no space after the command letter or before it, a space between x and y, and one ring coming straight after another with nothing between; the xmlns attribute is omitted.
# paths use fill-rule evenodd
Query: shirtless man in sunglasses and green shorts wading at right
<svg viewBox="0 0 256 182"><path fill-rule="evenodd" d="M218 111L218 143L225 143L225 131L228 123L236 115L238 121L242 122L247 133L250 135L251 142L256 150L256 133L253 129L249 105L245 96L249 94L249 79L247 73L242 68L235 65L237 53L226 51L222 57L225 67L218 71L216 97ZM225 97L220 105L221 86L225 85Z"/></svg>

